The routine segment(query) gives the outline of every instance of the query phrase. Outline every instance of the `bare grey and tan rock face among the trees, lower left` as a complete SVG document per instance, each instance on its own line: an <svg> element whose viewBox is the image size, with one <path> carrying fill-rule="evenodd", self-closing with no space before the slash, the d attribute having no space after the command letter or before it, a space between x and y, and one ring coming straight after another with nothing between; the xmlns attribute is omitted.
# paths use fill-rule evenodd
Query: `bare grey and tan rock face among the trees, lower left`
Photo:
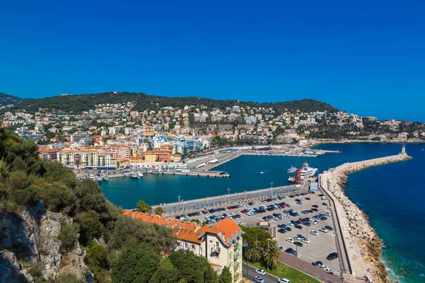
<svg viewBox="0 0 425 283"><path fill-rule="evenodd" d="M33 282L30 267L39 265L42 277L55 278L62 272L84 279L88 268L78 238L74 248L62 253L58 239L61 223L72 219L49 212L42 202L25 207L17 214L0 216L0 283Z"/></svg>

